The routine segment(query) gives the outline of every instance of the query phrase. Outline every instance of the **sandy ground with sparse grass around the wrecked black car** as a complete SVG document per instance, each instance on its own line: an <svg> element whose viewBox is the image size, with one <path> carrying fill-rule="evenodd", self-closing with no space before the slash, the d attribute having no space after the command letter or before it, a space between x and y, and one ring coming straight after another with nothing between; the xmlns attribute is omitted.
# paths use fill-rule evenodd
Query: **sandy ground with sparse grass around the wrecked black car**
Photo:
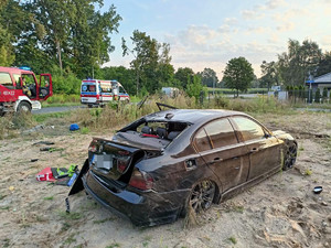
<svg viewBox="0 0 331 248"><path fill-rule="evenodd" d="M271 130L290 131L299 142L293 170L278 173L214 205L195 227L184 220L138 228L96 204L84 192L38 182L46 166L83 164L92 134L54 125L0 142L0 245L2 247L331 247L331 115L302 112L257 117ZM94 133L110 137L111 132ZM41 152L38 141L53 141ZM39 159L30 162L31 159ZM314 195L314 186L323 186Z"/></svg>

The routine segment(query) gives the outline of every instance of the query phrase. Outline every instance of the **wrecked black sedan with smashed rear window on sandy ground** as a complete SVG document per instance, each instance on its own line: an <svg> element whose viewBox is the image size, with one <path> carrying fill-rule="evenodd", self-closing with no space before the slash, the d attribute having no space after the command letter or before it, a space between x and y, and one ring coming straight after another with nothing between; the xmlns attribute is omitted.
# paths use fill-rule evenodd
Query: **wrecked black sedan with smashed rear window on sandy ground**
<svg viewBox="0 0 331 248"><path fill-rule="evenodd" d="M70 194L83 188L138 226L200 213L292 168L297 142L250 116L170 109L138 119L113 140L94 138Z"/></svg>

